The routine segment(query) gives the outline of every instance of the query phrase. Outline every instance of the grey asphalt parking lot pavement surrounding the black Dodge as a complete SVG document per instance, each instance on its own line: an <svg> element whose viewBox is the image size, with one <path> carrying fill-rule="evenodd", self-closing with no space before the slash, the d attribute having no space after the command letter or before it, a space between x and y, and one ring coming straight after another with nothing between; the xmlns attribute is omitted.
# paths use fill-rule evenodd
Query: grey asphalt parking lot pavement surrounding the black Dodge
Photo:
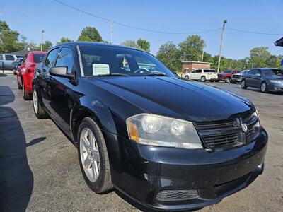
<svg viewBox="0 0 283 212"><path fill-rule="evenodd" d="M282 211L283 94L207 84L252 100L269 145L263 175L200 211ZM0 211L139 211L115 190L95 194L88 189L76 148L51 119L35 117L32 102L23 100L21 92L16 76L0 73Z"/></svg>

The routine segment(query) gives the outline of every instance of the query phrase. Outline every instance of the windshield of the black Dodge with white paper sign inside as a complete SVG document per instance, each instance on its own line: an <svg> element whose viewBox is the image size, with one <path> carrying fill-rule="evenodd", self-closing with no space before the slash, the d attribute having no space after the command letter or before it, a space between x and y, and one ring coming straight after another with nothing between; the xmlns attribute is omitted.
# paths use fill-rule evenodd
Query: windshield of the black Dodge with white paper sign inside
<svg viewBox="0 0 283 212"><path fill-rule="evenodd" d="M85 76L175 76L151 54L135 49L81 45Z"/></svg>

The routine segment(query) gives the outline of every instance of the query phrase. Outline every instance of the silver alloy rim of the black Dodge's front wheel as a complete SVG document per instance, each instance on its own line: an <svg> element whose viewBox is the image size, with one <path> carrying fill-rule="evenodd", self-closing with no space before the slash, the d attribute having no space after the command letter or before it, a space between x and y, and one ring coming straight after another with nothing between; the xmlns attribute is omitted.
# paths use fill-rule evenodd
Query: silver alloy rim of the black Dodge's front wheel
<svg viewBox="0 0 283 212"><path fill-rule="evenodd" d="M80 155L83 170L89 181L96 182L100 171L98 143L91 129L84 128L80 136Z"/></svg>

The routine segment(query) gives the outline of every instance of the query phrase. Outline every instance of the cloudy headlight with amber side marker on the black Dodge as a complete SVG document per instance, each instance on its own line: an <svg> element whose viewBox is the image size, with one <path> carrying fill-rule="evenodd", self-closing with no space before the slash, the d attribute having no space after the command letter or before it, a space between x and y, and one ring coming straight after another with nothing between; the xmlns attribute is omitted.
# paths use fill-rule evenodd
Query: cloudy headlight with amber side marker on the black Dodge
<svg viewBox="0 0 283 212"><path fill-rule="evenodd" d="M137 114L126 121L129 139L149 146L203 148L192 122L154 114Z"/></svg>

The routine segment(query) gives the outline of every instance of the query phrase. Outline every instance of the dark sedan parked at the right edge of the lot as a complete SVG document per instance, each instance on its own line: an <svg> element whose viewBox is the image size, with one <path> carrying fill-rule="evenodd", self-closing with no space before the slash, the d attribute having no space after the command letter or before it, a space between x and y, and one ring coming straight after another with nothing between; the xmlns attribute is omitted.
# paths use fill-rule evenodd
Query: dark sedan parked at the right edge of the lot
<svg viewBox="0 0 283 212"><path fill-rule="evenodd" d="M283 92L283 70L275 68L257 68L242 75L241 88L260 88L262 93Z"/></svg>

